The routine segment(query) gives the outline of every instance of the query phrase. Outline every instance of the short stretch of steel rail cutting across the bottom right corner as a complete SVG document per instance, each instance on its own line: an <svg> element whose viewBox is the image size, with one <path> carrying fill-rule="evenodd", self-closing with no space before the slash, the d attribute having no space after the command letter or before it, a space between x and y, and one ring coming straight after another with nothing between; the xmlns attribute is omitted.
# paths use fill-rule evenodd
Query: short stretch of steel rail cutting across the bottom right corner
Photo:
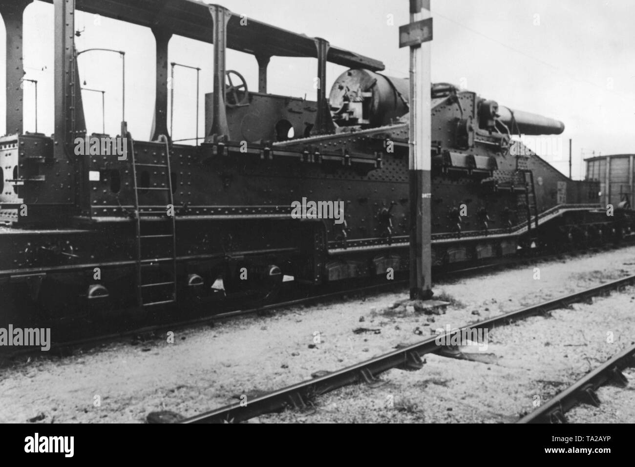
<svg viewBox="0 0 635 467"><path fill-rule="evenodd" d="M566 412L580 403L599 407L595 391L608 382L625 388L628 380L622 370L627 367L635 367L635 345L613 356L516 423L566 423Z"/></svg>

